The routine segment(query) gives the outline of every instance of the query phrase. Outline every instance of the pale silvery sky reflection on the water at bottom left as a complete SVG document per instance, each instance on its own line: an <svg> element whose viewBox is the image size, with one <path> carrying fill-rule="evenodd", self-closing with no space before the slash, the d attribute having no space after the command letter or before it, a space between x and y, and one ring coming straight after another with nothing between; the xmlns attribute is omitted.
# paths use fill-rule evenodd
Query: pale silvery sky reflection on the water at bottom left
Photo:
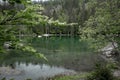
<svg viewBox="0 0 120 80"><path fill-rule="evenodd" d="M34 65L30 63L26 65L25 63L19 64L16 62L15 65L15 69L5 66L0 67L0 72L2 72L0 79L6 76L7 79L14 78L15 80L24 80L26 78L43 80L57 74L76 73L74 70L65 69L63 67L49 66L47 64Z"/></svg>

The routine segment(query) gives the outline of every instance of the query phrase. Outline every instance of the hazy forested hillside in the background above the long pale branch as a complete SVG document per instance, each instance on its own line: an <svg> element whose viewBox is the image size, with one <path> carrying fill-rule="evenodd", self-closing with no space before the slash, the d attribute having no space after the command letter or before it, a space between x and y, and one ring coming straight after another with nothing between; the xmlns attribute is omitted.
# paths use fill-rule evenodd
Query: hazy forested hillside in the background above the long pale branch
<svg viewBox="0 0 120 80"><path fill-rule="evenodd" d="M79 23L82 27L91 15L94 15L97 0L48 0L41 4L44 13L54 20Z"/></svg>

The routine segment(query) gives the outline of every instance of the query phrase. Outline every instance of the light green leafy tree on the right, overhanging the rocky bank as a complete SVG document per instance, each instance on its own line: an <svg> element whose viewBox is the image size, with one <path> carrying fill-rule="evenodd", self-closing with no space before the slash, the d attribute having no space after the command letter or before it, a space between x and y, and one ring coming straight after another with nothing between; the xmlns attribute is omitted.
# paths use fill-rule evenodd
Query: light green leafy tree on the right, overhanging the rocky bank
<svg viewBox="0 0 120 80"><path fill-rule="evenodd" d="M95 14L84 23L83 35L95 39L98 44L103 44L103 41L119 43L116 40L120 33L119 3L119 0L97 1Z"/></svg>

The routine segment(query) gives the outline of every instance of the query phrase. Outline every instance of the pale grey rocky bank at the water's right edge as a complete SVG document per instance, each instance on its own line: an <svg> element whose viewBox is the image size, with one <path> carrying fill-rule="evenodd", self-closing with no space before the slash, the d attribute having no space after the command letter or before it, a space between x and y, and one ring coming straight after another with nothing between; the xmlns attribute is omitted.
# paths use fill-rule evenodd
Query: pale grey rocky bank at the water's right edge
<svg viewBox="0 0 120 80"><path fill-rule="evenodd" d="M100 56L107 62L112 62L119 64L119 59L120 59L120 52L117 49L118 44L117 43L108 43L107 46L102 48ZM118 69L113 70L113 75L115 77L120 77L120 65L117 65Z"/></svg>

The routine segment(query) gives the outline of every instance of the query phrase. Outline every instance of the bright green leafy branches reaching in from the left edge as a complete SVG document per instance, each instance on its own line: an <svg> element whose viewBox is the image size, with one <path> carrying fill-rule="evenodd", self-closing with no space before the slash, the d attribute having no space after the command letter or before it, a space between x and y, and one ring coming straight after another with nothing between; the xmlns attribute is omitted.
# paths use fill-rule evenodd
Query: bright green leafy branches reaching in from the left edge
<svg viewBox="0 0 120 80"><path fill-rule="evenodd" d="M37 52L32 46L19 45L23 43L21 43L19 37L17 37L17 35L26 35L31 26L46 20L47 17L41 15L43 8L40 5L30 3L30 0L7 1L7 7L10 7L10 9L8 9L6 5L0 4L0 6L2 6L0 9L0 54L7 53L7 49L20 49L35 53L33 55L47 60L43 54ZM6 0L3 2L6 2ZM19 34L19 32L21 32L21 34Z"/></svg>

